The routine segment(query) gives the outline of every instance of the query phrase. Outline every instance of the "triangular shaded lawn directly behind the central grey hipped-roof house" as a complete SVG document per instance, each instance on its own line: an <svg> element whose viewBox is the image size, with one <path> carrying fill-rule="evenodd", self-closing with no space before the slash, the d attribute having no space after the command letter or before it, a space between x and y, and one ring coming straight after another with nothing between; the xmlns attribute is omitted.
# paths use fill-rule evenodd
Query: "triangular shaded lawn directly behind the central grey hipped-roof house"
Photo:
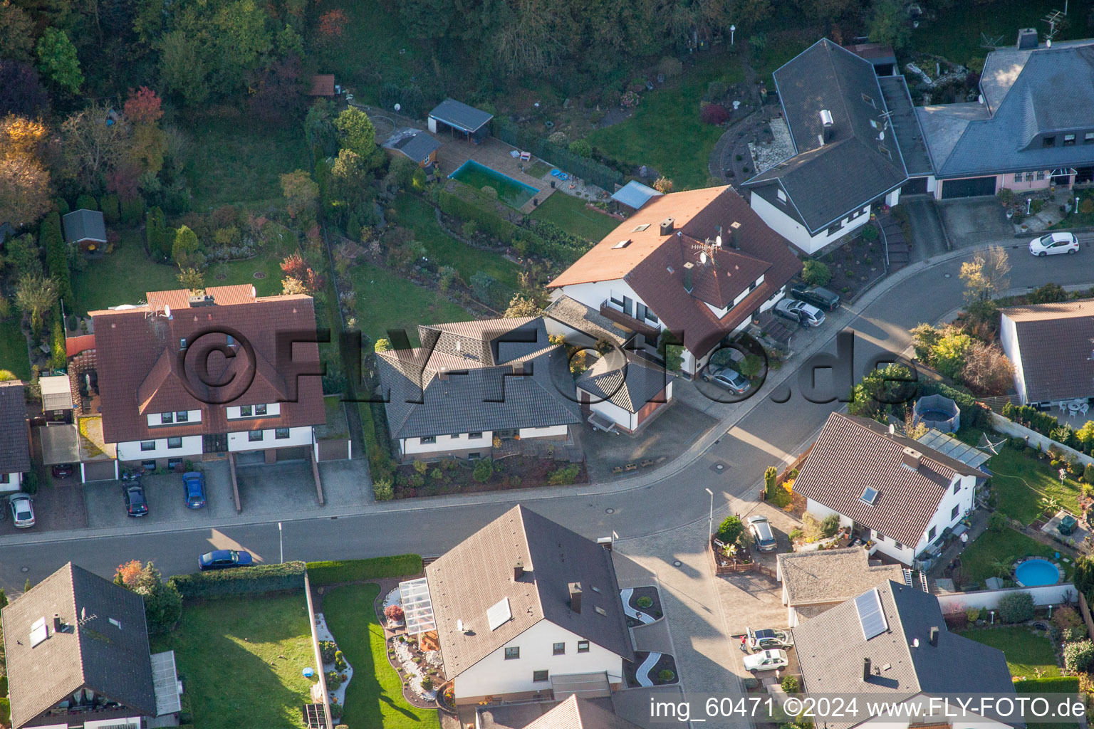
<svg viewBox="0 0 1094 729"><path fill-rule="evenodd" d="M415 344L419 324L475 318L439 293L372 263L357 262L350 271L357 294L358 326L372 341L387 337L388 329L405 329Z"/></svg>

